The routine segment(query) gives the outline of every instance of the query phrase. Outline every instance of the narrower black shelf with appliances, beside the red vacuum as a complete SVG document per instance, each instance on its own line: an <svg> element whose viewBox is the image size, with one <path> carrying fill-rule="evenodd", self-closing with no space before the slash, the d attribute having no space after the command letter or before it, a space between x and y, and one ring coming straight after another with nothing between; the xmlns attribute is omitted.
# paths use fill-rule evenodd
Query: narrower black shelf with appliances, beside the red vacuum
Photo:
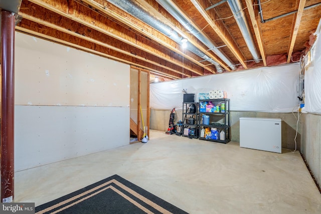
<svg viewBox="0 0 321 214"><path fill-rule="evenodd" d="M183 131L182 136L190 138L199 137L199 117L198 112L199 103L196 102L183 102Z"/></svg>

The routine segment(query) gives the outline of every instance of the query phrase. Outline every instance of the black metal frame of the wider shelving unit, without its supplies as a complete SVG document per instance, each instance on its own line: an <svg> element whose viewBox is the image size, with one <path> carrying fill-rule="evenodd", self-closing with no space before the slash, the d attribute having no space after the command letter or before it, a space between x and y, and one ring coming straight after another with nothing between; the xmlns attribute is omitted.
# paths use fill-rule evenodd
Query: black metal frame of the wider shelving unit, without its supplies
<svg viewBox="0 0 321 214"><path fill-rule="evenodd" d="M213 100L200 100L199 101L199 121L198 121L198 127L199 127L199 133L200 133L200 139L201 140L208 140L208 141L214 141L219 143L228 143L231 141L231 117L230 117L230 100L229 99L213 99ZM204 112L204 109L201 109L204 103L212 102L213 105L221 106L222 104L225 105L225 111L222 112L222 109L218 112ZM209 124L203 124L203 115L209 115L210 116L210 122ZM220 122L218 122L220 121ZM212 128L216 128L219 132L224 130L225 132L225 138L222 139L212 139L210 136L201 137L201 130L205 128L209 128L210 130ZM218 134L219 136L219 134Z"/></svg>

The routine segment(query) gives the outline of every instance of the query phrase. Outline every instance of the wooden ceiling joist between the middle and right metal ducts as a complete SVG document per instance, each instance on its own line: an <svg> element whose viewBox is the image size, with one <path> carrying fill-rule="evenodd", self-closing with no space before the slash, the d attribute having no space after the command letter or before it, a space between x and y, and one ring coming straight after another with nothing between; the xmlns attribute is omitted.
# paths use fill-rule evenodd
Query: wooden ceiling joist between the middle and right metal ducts
<svg viewBox="0 0 321 214"><path fill-rule="evenodd" d="M205 11L205 6L201 4L200 0L191 0L195 8L200 12L200 14L204 17L204 19L208 22L208 24L212 27L212 29L216 32L216 34L223 40L226 46L231 50L237 60L243 65L245 69L247 69L246 59L237 44L234 42L233 38L222 24L221 20L217 20L215 13L207 13ZM216 21L217 20L217 21Z"/></svg>

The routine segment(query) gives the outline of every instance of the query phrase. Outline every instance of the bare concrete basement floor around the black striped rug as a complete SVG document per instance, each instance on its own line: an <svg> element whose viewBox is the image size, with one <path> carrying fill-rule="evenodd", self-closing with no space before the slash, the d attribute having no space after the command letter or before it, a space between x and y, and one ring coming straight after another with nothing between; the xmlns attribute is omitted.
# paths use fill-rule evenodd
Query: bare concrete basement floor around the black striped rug
<svg viewBox="0 0 321 214"><path fill-rule="evenodd" d="M154 130L150 138L16 172L15 202L37 206L118 174L189 213L321 213L321 194L299 152Z"/></svg>

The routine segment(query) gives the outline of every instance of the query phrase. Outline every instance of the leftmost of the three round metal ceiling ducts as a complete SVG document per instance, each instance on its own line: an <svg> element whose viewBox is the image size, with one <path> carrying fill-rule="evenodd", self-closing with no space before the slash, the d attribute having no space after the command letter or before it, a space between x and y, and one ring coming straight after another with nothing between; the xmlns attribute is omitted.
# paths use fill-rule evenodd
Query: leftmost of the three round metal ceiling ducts
<svg viewBox="0 0 321 214"><path fill-rule="evenodd" d="M161 21L151 17L146 11L140 8L138 5L133 3L131 0L107 0L109 3L113 4L117 8L127 12L128 14L136 17L137 19L141 20L142 22L146 23L147 25L151 26L152 28L156 29L157 31L161 32L162 34L166 35L176 43L183 45L182 43L182 36L180 36L174 29L170 26L162 23ZM204 52L194 46L192 43L187 42L187 48L189 51L193 52L197 56L201 57L205 61L208 61L215 65L216 70L218 73L222 72L221 66L207 56Z"/></svg>

